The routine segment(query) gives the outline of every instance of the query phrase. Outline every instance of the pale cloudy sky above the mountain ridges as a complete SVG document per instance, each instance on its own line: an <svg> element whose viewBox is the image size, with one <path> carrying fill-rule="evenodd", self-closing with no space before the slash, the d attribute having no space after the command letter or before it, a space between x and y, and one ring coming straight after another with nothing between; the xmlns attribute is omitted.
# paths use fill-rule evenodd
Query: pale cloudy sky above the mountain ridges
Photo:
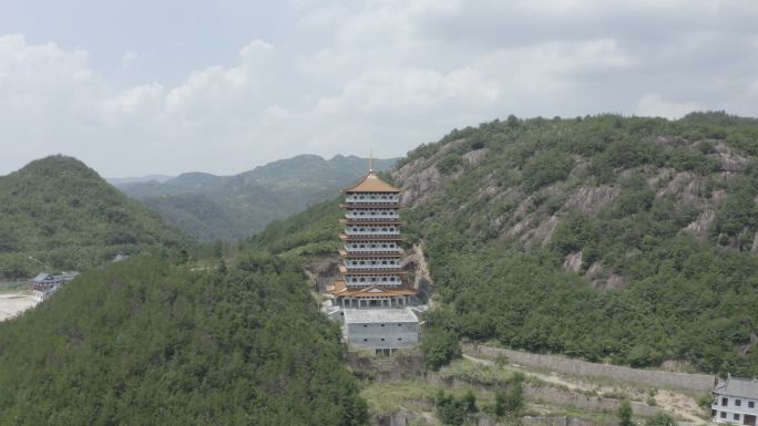
<svg viewBox="0 0 758 426"><path fill-rule="evenodd" d="M0 0L0 175L393 157L510 114L758 116L755 0Z"/></svg>

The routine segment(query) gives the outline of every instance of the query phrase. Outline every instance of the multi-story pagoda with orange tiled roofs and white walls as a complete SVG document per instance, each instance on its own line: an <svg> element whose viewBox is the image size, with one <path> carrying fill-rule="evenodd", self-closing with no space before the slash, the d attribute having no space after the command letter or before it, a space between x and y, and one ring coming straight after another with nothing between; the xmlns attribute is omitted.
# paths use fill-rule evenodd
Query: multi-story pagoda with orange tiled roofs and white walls
<svg viewBox="0 0 758 426"><path fill-rule="evenodd" d="M401 190L381 180L369 168L358 184L345 190L345 225L339 238L340 277L328 292L340 308L402 308L416 290L401 266Z"/></svg>

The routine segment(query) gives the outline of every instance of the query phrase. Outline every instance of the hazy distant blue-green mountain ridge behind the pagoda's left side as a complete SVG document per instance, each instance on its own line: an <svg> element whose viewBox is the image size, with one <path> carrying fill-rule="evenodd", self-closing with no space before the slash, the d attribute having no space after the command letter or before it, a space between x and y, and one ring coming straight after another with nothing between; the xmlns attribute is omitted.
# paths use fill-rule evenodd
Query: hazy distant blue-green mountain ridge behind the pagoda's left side
<svg viewBox="0 0 758 426"><path fill-rule="evenodd" d="M395 159L376 159L388 169ZM334 197L366 173L367 160L300 155L235 176L187 173L164 183L120 185L168 222L203 241L249 237L273 220Z"/></svg>

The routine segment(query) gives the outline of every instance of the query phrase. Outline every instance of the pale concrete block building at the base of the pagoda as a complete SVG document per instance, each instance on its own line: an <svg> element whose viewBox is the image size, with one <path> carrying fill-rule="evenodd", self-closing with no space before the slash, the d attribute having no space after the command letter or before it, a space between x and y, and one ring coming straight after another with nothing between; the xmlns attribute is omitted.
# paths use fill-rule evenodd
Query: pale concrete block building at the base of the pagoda
<svg viewBox="0 0 758 426"><path fill-rule="evenodd" d="M395 350L419 343L419 319L406 309L346 309L345 341L348 347L391 355Z"/></svg>

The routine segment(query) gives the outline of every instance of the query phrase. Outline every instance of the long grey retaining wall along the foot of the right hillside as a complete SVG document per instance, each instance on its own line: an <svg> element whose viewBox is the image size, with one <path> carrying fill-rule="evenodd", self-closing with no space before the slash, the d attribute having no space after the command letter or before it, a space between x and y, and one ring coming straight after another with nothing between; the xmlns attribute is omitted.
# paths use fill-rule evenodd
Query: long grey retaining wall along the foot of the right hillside
<svg viewBox="0 0 758 426"><path fill-rule="evenodd" d="M570 360L555 355L539 355L501 347L465 344L467 353L494 360L499 355L508 356L509 362L531 367L580 375L607 377L615 381L635 382L648 386L678 388L690 391L710 391L715 377L708 374L672 373L652 370L638 370L618 365L595 364L580 360Z"/></svg>

